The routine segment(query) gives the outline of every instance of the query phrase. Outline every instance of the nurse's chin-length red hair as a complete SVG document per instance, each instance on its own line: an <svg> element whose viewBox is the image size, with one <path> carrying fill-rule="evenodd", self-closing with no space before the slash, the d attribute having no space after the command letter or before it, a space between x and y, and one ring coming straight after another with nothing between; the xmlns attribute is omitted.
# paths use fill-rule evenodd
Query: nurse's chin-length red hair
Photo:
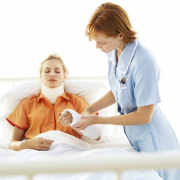
<svg viewBox="0 0 180 180"><path fill-rule="evenodd" d="M124 34L126 42L136 39L136 32L132 30L127 12L119 5L104 3L92 14L86 27L85 35L93 40L97 32L103 32L108 37L116 37Z"/></svg>

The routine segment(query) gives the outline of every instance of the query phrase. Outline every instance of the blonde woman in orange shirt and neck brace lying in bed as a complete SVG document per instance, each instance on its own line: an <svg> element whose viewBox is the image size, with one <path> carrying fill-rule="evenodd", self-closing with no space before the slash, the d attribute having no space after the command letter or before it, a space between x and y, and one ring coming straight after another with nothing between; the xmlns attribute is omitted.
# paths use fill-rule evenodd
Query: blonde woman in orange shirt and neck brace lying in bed
<svg viewBox="0 0 180 180"><path fill-rule="evenodd" d="M71 109L80 114L88 106L82 97L64 92L63 81L67 75L68 70L57 55L50 55L41 63L41 92L37 96L22 100L6 118L14 126L10 149L48 150L53 140L34 137L50 130L59 130L84 139L82 133L69 126L73 120L70 112L63 114L66 117L65 121L61 118L62 120L58 122L59 115L65 109ZM98 139L101 131L97 130L96 126L94 129L96 129ZM23 137L26 140L23 140Z"/></svg>

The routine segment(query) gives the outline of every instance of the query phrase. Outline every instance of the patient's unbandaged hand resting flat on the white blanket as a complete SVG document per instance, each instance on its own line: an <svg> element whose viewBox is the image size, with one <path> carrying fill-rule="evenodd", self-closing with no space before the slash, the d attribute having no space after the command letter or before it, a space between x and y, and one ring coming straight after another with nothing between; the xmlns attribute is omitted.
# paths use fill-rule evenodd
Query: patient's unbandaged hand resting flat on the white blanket
<svg viewBox="0 0 180 180"><path fill-rule="evenodd" d="M28 139L28 149L36 149L39 151L47 151L49 150L51 144L53 143L53 140L50 139L44 139L44 138L32 138Z"/></svg>

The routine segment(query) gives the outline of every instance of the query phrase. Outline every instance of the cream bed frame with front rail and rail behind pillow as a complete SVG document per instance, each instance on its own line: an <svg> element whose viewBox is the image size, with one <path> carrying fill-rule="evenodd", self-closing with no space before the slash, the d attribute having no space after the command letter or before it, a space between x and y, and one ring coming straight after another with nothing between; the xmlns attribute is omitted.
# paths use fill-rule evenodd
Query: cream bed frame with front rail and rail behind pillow
<svg viewBox="0 0 180 180"><path fill-rule="evenodd" d="M12 82L12 87L16 82L34 80L35 78L0 78L0 82ZM70 77L68 80L97 80L107 81L105 77ZM19 175L25 174L28 179L33 179L36 174L43 173L77 173L88 171L112 171L114 179L121 180L122 173L129 170L145 170L145 169L168 169L180 168L180 152L166 153L144 153L132 154L128 157L107 157L107 158L83 158L77 159L61 158L51 161L20 161L6 160L0 161L0 175Z"/></svg>

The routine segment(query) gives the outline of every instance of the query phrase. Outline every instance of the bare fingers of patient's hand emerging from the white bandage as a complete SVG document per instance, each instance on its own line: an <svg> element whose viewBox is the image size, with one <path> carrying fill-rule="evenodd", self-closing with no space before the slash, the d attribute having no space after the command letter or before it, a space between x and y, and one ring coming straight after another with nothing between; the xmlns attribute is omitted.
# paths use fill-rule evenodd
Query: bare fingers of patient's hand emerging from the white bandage
<svg viewBox="0 0 180 180"><path fill-rule="evenodd" d="M58 115L60 115L58 122L60 122L63 126L69 126L72 123L73 117L71 113L58 113Z"/></svg>

